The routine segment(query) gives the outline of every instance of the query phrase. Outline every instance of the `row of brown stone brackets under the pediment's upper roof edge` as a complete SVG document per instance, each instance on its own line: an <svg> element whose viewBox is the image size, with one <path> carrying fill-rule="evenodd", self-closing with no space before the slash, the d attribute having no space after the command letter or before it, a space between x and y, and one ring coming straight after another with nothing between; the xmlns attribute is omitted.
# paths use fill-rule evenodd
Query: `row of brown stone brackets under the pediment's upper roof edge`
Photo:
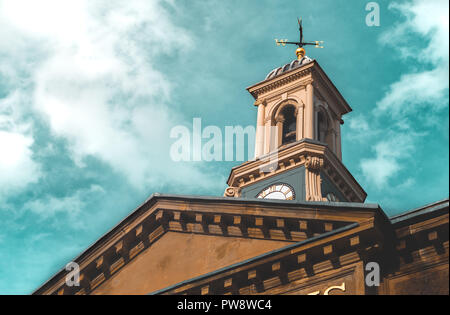
<svg viewBox="0 0 450 315"><path fill-rule="evenodd" d="M185 207L177 207L175 203L172 207L164 204L155 205L147 215L136 218L132 225L123 227L110 241L93 249L84 260L76 261L80 265L80 287L66 287L64 272L53 285L44 286L37 293L90 294L169 231L299 242L326 233L330 225L339 228L349 224L347 216L339 213L330 215L327 210L322 210L322 218L322 215L313 214L316 210L304 209L304 218L299 219L298 212L275 210L279 209L277 207L261 215L252 211L246 213L242 209L227 212L226 208L222 213L206 212L201 207L198 210L176 210ZM311 214L308 215L309 212ZM361 220L361 229L373 227L372 220Z"/></svg>

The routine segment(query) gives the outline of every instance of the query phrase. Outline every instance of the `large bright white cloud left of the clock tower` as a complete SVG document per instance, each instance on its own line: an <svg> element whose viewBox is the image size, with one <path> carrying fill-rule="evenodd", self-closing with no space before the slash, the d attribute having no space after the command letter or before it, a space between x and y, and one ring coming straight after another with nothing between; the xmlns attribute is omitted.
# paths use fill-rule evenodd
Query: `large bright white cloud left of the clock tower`
<svg viewBox="0 0 450 315"><path fill-rule="evenodd" d="M169 106L174 87L155 60L192 41L162 2L0 2L0 42L14 38L0 44L14 64L0 74L9 73L22 108L42 115L68 141L80 167L94 156L142 189L189 186L192 178L217 185L197 166L168 159L169 131L183 117Z"/></svg>

